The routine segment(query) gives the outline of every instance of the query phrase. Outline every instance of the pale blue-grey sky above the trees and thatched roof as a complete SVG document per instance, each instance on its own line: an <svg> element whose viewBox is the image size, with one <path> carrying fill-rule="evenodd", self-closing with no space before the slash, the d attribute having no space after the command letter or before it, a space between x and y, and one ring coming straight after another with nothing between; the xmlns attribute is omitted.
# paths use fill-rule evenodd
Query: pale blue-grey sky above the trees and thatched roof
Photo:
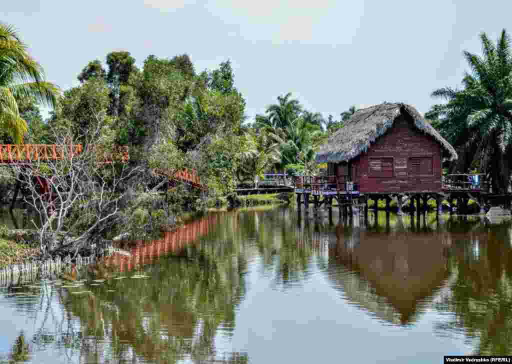
<svg viewBox="0 0 512 364"><path fill-rule="evenodd" d="M289 91L336 119L382 101L425 113L434 89L460 85L481 32L512 32L509 0L6 0L2 12L63 90L113 50L139 67L188 53L198 72L230 59L249 117Z"/></svg>

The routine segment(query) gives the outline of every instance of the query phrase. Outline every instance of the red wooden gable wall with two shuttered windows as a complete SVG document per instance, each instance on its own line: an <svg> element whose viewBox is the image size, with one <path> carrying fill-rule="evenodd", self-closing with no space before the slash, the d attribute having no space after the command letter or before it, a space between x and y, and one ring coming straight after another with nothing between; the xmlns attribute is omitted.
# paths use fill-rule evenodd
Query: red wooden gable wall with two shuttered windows
<svg viewBox="0 0 512 364"><path fill-rule="evenodd" d="M408 116L399 116L351 164L352 179L361 192L441 191L441 144L415 129Z"/></svg>

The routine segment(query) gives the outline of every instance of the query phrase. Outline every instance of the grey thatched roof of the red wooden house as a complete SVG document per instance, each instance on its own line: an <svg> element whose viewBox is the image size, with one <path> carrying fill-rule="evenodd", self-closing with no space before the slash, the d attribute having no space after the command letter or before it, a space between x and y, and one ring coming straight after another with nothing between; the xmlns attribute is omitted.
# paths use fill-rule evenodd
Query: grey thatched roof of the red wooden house
<svg viewBox="0 0 512 364"><path fill-rule="evenodd" d="M404 103L383 103L358 110L342 129L320 147L316 154L316 162L347 162L366 152L371 143L393 126L396 117L404 113L414 120L418 130L432 136L442 145L447 158L457 159L457 152L453 146L426 122L413 106Z"/></svg>

